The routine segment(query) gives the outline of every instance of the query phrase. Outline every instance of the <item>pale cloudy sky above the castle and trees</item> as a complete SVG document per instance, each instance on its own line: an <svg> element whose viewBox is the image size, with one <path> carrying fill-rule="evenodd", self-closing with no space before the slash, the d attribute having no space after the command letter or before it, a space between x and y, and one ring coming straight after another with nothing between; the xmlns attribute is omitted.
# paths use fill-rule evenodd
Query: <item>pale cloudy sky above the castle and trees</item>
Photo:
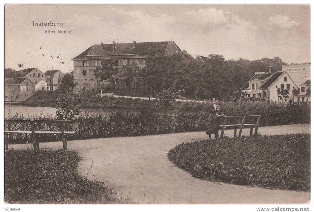
<svg viewBox="0 0 314 212"><path fill-rule="evenodd" d="M33 26L33 23L63 23ZM60 25L60 24L59 24ZM45 33L51 30L55 33ZM59 34L58 30L72 30ZM73 70L94 44L175 41L225 59L311 62L311 6L267 4L5 5L5 68ZM19 67L19 64L22 67Z"/></svg>

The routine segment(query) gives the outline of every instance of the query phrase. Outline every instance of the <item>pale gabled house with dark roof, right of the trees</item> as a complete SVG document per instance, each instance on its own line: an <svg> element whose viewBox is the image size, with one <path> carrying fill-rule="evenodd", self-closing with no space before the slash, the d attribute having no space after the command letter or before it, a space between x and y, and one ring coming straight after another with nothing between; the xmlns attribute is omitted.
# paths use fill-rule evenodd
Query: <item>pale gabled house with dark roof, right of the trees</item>
<svg viewBox="0 0 314 212"><path fill-rule="evenodd" d="M255 72L254 76L241 87L247 98L280 103L278 89L290 91L287 99L289 101L293 98L293 90L297 89L297 86L287 72L272 70L272 67L269 67L268 72Z"/></svg>

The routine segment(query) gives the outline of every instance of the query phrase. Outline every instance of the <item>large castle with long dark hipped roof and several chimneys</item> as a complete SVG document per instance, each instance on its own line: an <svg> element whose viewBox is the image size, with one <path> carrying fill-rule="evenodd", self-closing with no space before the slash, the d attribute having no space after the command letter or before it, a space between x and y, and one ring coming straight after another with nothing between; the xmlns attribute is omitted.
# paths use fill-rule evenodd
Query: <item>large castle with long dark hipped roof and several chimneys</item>
<svg viewBox="0 0 314 212"><path fill-rule="evenodd" d="M117 75L115 84L122 87L135 86L136 81L126 78L121 72L122 67L136 63L138 67L144 68L146 59L155 55L180 54L187 61L194 61L194 58L186 51L181 51L179 46L173 41L163 42L141 42L137 43L115 43L97 44L90 46L84 52L74 57L73 76L78 85L75 90L84 87L85 90L98 90L96 80L96 68L101 66L104 59L114 59L116 61Z"/></svg>

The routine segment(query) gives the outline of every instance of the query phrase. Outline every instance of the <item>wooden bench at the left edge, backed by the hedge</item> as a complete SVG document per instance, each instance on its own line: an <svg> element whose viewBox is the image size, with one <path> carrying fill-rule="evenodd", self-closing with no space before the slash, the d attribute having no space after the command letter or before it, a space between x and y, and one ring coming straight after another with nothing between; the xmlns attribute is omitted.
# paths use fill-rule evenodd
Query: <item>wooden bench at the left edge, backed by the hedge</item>
<svg viewBox="0 0 314 212"><path fill-rule="evenodd" d="M29 119L7 119L4 120L5 123L8 124L8 130L4 130L4 134L7 134L7 139L4 139L5 149L9 148L9 143L12 134L16 133L26 133L32 134L32 140L34 145L34 150L39 149L39 141L36 140L36 134L61 134L61 140L63 144L63 149L67 150L67 134L74 134L75 131L64 131L64 124L72 123L71 120L29 120ZM30 123L31 131L17 131L17 130L10 130L12 127L12 123ZM35 131L35 123L59 123L61 127L61 131Z"/></svg>

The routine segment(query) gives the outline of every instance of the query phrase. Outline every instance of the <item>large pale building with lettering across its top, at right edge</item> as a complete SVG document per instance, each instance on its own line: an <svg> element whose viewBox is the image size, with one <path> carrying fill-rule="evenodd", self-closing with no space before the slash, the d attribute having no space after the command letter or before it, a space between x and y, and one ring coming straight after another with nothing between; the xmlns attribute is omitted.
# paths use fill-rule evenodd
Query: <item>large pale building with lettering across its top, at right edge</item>
<svg viewBox="0 0 314 212"><path fill-rule="evenodd" d="M286 71L298 86L311 79L311 63L283 65L282 71Z"/></svg>

